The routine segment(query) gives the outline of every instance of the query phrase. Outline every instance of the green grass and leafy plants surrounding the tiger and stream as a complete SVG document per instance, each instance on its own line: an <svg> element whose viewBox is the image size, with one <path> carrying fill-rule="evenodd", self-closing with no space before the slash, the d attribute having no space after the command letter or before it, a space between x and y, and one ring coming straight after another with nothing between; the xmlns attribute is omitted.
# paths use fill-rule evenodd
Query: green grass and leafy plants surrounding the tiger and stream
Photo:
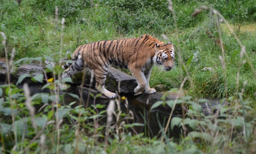
<svg viewBox="0 0 256 154"><path fill-rule="evenodd" d="M59 6L57 23L55 5ZM24 96L24 91L15 85L1 85L0 93L4 93L4 97L0 98L0 150L4 153L255 152L254 0L174 0L177 29L167 5L165 0L95 0L92 8L89 0L22 0L20 5L15 0L0 1L0 32L7 36L6 56L10 58L12 48L16 49L15 61L23 57L49 56L59 53L62 47L62 55L52 55L57 62L81 44L138 37L146 33L163 40L161 35L165 34L176 45L176 67L170 72L153 67L150 86L157 91L180 88L183 79L190 76L183 90L187 91L186 95L193 96L191 100L182 98L176 102L191 104L186 110L189 118L173 118L171 121L171 126L178 125L183 129L178 141L162 141L156 137L147 138L143 134L131 135L127 130L132 126L122 121L126 121L127 117L131 118L132 114L124 114L117 109L114 117L119 121L112 123L106 144L103 138L107 124L100 121L106 119L107 115L104 110L98 113L103 107L95 104L84 109L80 104L71 108L72 103L60 103L64 96L57 91L58 80L48 88L59 101L55 102L49 94L32 96L32 104L48 103L35 116L37 129L30 120L30 109L25 104L28 96ZM194 9L201 5L216 8L231 23L241 44L245 45L249 58L246 55L240 56L241 47L224 23L220 24L222 36L219 36L217 15L206 10L196 17L191 16ZM60 24L62 17L66 19L63 33ZM219 55L222 56L222 48L217 43L220 39L224 45L225 63L221 63L219 58ZM0 40L3 41L2 38ZM1 44L1 57L5 56L4 49L5 45ZM181 59L178 59L178 52ZM17 65L19 64L21 63ZM182 65L186 66L188 73ZM58 67L52 71L55 77L62 72ZM218 113L204 116L196 105L201 100L199 98L224 98L231 105L221 108ZM116 105L118 103L116 101ZM18 113L15 115L11 109ZM219 119L219 116L226 119ZM250 119L246 120L247 117ZM66 121L58 123L58 119ZM127 129L122 129L124 127ZM161 135L164 137L164 133Z"/></svg>

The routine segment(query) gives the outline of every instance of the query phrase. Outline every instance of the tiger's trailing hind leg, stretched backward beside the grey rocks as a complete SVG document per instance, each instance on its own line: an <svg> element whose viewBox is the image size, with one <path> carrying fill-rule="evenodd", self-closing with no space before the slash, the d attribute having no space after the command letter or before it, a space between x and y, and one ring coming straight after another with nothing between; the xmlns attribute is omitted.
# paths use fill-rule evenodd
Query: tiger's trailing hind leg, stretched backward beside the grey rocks
<svg viewBox="0 0 256 154"><path fill-rule="evenodd" d="M81 55L78 55L78 58L72 64L65 63L62 66L63 69L68 68L62 73L62 78L72 77L74 74L81 72L85 67L87 66L84 63L84 59ZM60 85L60 89L64 89L65 87L67 87L65 84Z"/></svg>

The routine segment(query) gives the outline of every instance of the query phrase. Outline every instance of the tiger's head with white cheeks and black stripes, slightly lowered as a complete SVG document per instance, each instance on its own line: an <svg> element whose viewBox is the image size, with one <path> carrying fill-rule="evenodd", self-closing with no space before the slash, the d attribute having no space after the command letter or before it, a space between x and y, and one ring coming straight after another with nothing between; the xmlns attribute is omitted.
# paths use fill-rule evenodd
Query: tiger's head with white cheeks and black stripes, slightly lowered
<svg viewBox="0 0 256 154"><path fill-rule="evenodd" d="M174 67L174 46L171 41L155 44L155 56L153 61L156 65L163 65L164 70L169 71Z"/></svg>

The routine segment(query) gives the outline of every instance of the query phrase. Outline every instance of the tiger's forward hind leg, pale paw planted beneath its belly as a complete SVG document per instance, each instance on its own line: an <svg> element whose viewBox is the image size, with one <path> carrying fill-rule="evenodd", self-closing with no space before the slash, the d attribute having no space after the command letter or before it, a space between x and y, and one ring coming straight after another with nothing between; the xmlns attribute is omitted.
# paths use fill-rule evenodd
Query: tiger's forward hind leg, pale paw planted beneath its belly
<svg viewBox="0 0 256 154"><path fill-rule="evenodd" d="M94 76L96 80L95 88L103 95L107 96L108 98L115 98L117 97L116 93L110 92L105 89L105 81L107 77L107 68L99 68L94 70Z"/></svg>

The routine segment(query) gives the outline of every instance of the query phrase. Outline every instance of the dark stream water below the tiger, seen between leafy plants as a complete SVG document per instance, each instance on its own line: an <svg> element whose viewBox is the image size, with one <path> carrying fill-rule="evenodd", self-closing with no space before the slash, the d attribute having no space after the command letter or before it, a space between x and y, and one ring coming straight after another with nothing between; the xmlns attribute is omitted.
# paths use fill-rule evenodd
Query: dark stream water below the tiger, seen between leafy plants
<svg viewBox="0 0 256 154"><path fill-rule="evenodd" d="M48 89L42 90L43 84L36 84L34 82L27 82L30 88L31 96L36 93L50 93ZM3 82L0 82L0 85L4 84ZM22 88L23 85L18 85L19 88ZM73 93L80 97L79 91L75 90L76 87L71 87L69 91L61 92L63 94L65 93ZM87 94L82 95L82 104L86 104L87 102ZM161 136L161 127L165 127L167 124L167 120L169 118L169 115L171 113L170 108L165 107L158 107L154 110L150 110L151 105L146 104L144 102L138 101L133 95L130 94L121 94L121 96L125 96L128 99L128 107L125 105L125 101L121 101L120 106L123 113L129 113L129 110L133 112L134 119L129 120L129 123L132 124L133 122L144 124L144 126L134 126L134 130L131 130L132 133L136 131L137 133L144 132L146 136L148 137L154 137L154 136ZM73 107L79 105L79 100L71 97L68 94L64 95L64 103L69 104L71 102L76 101L76 103L73 105ZM96 98L95 103L96 104L105 104L105 108L102 108L101 110L106 110L108 103L110 102L110 99L101 99ZM94 98L90 97L89 99L89 106L94 104ZM36 109L39 110L42 105L36 105ZM116 105L117 108L117 105ZM182 116L181 111L176 111L173 116ZM172 116L172 117L173 117ZM101 123L105 123L106 119L103 119ZM169 125L169 131L167 132L168 137L174 137L179 138L181 134L181 130L177 127L174 127L175 129L173 131L170 131L170 125Z"/></svg>

